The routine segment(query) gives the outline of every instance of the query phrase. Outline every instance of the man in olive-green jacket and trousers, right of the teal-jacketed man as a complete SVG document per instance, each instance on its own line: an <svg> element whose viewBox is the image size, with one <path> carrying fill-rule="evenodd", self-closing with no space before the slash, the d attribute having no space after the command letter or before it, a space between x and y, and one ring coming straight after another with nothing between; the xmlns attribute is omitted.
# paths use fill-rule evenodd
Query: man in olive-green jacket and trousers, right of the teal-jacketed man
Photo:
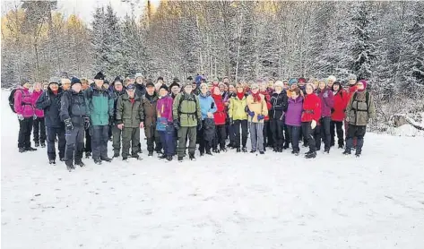
<svg viewBox="0 0 424 249"><path fill-rule="evenodd" d="M130 147L132 147L131 157L141 159L138 153L140 152L140 128L144 127L143 118L142 99L135 93L134 84L129 84L126 87L126 94L117 99L117 128L122 131L123 160L128 159Z"/></svg>

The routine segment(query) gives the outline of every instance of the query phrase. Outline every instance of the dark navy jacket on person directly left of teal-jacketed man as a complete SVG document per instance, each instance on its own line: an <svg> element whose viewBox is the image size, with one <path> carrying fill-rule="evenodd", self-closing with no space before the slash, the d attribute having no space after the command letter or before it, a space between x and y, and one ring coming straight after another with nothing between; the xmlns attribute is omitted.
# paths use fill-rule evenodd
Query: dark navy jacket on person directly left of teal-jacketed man
<svg viewBox="0 0 424 249"><path fill-rule="evenodd" d="M74 90L65 90L60 99L60 119L71 118L74 126L83 126L85 117L90 116L85 94Z"/></svg>

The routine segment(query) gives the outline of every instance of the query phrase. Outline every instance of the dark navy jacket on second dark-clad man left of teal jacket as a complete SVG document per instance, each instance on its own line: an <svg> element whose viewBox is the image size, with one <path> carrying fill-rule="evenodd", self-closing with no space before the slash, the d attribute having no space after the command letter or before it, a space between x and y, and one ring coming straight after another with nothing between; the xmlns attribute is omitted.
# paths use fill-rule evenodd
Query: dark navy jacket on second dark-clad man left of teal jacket
<svg viewBox="0 0 424 249"><path fill-rule="evenodd" d="M42 109L44 112L45 125L51 128L62 128L64 122L60 120L60 98L62 97L63 91L59 88L55 95L50 88L44 91L37 102L35 107Z"/></svg>

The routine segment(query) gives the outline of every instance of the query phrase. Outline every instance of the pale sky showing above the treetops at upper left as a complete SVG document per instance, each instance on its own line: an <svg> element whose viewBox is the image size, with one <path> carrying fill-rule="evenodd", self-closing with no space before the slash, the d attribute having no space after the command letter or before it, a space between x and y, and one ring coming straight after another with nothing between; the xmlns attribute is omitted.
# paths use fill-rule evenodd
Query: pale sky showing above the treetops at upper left
<svg viewBox="0 0 424 249"><path fill-rule="evenodd" d="M134 1L135 2L135 1ZM146 0L139 0L140 4L134 7L135 16L140 16L143 13L143 7L146 5ZM2 0L2 15L8 10L13 9L14 4L19 4L19 0ZM69 14L76 14L86 22L92 21L92 13L94 9L101 5L112 4L113 9L119 17L124 17L125 13L131 13L131 5L123 3L121 0L58 0L57 11ZM151 4L158 5L160 0L151 0Z"/></svg>

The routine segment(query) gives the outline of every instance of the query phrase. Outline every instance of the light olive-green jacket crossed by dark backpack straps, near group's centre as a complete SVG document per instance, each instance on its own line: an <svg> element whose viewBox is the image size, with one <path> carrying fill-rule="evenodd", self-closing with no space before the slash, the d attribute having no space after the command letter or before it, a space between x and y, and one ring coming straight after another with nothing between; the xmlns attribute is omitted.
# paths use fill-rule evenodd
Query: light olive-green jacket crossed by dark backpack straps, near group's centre
<svg viewBox="0 0 424 249"><path fill-rule="evenodd" d="M181 127L197 126L197 120L202 118L199 98L194 94L179 93L174 99L172 116L179 120Z"/></svg>

